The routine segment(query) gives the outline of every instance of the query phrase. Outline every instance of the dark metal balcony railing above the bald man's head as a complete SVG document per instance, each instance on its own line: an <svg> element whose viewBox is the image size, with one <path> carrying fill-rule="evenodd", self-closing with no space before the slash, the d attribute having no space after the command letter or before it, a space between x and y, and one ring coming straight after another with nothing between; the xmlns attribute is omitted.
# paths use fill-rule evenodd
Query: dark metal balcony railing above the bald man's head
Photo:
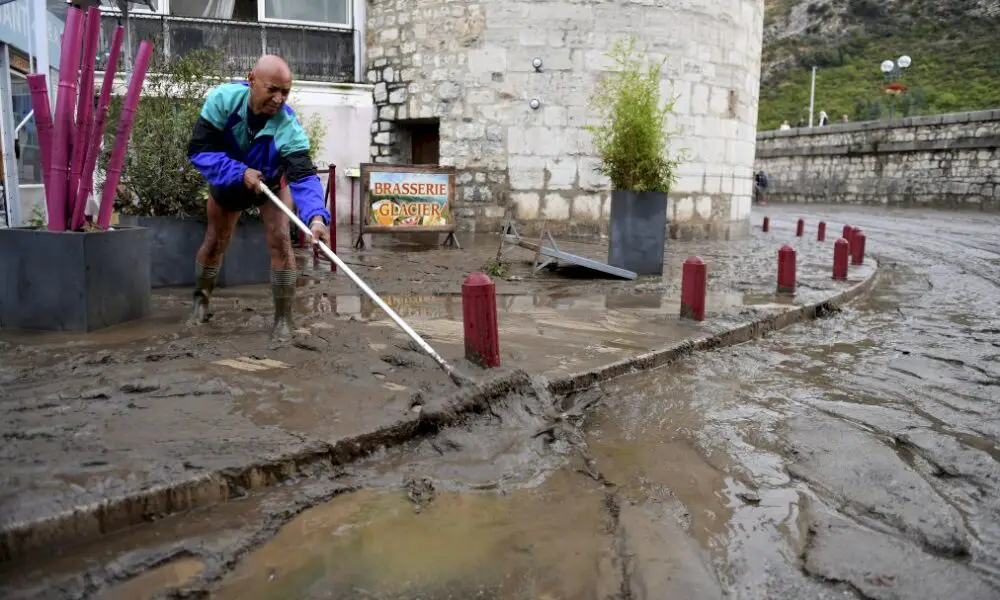
<svg viewBox="0 0 1000 600"><path fill-rule="evenodd" d="M107 64L111 35L119 22L115 15L101 18L98 70ZM225 74L240 76L246 75L262 54L277 54L288 61L296 79L355 82L355 32L349 30L146 15L130 15L129 30L129 56L135 56L142 40L152 41L167 57L196 50L221 51Z"/></svg>

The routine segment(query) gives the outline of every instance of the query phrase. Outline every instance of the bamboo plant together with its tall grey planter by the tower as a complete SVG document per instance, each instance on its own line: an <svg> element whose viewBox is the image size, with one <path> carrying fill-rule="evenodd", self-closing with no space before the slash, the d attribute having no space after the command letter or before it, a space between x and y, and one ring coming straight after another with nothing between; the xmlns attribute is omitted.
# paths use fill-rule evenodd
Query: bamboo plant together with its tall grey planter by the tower
<svg viewBox="0 0 1000 600"><path fill-rule="evenodd" d="M662 275L667 238L667 194L678 160L669 152L667 117L674 100L661 101L663 62L646 66L635 38L609 53L614 70L591 97L599 125L588 127L600 157L598 171L611 180L608 264L639 275Z"/></svg>

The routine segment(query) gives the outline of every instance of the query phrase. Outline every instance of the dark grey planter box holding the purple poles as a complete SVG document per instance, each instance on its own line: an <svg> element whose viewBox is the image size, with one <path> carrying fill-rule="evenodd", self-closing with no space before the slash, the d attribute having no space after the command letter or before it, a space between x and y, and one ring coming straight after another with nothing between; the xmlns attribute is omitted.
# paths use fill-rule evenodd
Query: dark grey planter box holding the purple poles
<svg viewBox="0 0 1000 600"><path fill-rule="evenodd" d="M148 317L150 237L0 229L0 328L88 332Z"/></svg>

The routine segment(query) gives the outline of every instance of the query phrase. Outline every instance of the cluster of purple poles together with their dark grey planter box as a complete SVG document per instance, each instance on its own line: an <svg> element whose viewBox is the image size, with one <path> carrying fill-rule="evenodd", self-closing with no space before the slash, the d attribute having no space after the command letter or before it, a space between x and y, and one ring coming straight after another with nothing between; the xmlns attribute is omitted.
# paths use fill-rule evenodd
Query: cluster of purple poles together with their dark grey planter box
<svg viewBox="0 0 1000 600"><path fill-rule="evenodd" d="M0 229L0 280L7 282L0 290L0 328L94 331L149 315L149 232L112 228L110 219L153 45L139 44L120 118L109 117L124 30L114 32L94 110L100 33L99 8L91 7L86 16L79 8L67 9L54 112L46 75L28 76L47 219L44 228ZM98 214L88 221L85 209L105 133L111 149L108 186Z"/></svg>

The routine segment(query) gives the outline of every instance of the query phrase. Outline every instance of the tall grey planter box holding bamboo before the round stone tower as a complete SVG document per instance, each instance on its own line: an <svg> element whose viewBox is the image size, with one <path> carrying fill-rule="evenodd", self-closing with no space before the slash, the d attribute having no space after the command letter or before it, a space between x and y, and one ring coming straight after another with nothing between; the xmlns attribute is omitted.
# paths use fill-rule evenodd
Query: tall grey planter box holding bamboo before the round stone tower
<svg viewBox="0 0 1000 600"><path fill-rule="evenodd" d="M608 264L639 275L663 275L667 195L611 192Z"/></svg>

